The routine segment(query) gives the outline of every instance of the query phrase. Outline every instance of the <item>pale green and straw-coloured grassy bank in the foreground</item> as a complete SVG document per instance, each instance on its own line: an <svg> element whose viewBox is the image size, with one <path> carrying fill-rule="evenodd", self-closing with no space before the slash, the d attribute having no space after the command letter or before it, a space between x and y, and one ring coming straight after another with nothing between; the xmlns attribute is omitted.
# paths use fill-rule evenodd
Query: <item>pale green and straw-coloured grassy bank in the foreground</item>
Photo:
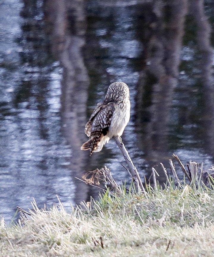
<svg viewBox="0 0 214 257"><path fill-rule="evenodd" d="M107 192L70 214L59 204L22 226L1 222L0 256L213 256L213 218L208 188Z"/></svg>

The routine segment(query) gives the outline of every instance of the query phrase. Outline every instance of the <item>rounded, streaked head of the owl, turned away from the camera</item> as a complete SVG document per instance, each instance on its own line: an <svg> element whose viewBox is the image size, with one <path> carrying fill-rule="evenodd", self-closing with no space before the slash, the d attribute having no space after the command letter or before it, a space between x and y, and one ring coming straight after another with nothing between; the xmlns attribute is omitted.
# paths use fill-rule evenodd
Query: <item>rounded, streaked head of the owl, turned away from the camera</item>
<svg viewBox="0 0 214 257"><path fill-rule="evenodd" d="M114 82L107 90L105 100L123 102L129 99L129 88L124 82Z"/></svg>

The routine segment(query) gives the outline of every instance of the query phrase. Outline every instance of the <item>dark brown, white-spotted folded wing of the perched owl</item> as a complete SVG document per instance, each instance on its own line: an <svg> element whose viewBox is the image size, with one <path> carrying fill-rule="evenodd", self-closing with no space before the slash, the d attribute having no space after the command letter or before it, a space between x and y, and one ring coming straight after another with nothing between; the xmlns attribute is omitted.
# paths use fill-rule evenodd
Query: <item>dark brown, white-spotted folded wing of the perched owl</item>
<svg viewBox="0 0 214 257"><path fill-rule="evenodd" d="M114 103L98 104L85 126L85 133L88 137L105 136L111 124Z"/></svg>

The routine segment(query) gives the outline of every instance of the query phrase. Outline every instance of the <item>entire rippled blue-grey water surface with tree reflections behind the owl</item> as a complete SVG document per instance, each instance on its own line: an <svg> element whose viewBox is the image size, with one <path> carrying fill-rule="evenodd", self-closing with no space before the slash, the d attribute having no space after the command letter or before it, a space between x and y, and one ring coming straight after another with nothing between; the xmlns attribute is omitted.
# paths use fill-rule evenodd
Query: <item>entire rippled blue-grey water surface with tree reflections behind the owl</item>
<svg viewBox="0 0 214 257"><path fill-rule="evenodd" d="M113 140L89 156L84 125L108 85L130 87L123 141L141 177L172 153L214 156L213 10L197 1L2 1L0 205L97 198L75 177L103 165L130 181ZM13 19L10 19L12 15ZM205 167L206 167L205 165ZM157 170L159 166L157 167ZM160 181L165 178L159 170Z"/></svg>

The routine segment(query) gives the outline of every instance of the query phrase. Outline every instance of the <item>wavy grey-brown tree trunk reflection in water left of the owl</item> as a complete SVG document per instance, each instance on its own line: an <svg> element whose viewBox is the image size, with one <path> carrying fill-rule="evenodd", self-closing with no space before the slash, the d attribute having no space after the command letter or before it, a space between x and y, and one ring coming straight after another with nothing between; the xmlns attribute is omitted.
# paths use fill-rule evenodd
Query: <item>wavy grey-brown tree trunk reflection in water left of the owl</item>
<svg viewBox="0 0 214 257"><path fill-rule="evenodd" d="M51 50L63 68L61 95L61 126L64 138L72 153L72 177L79 177L90 167L88 152L81 151L85 140L86 101L89 77L84 65L82 47L85 45L86 15L84 1L53 1L44 4L46 27L51 40ZM74 179L75 202L90 200L93 189Z"/></svg>

